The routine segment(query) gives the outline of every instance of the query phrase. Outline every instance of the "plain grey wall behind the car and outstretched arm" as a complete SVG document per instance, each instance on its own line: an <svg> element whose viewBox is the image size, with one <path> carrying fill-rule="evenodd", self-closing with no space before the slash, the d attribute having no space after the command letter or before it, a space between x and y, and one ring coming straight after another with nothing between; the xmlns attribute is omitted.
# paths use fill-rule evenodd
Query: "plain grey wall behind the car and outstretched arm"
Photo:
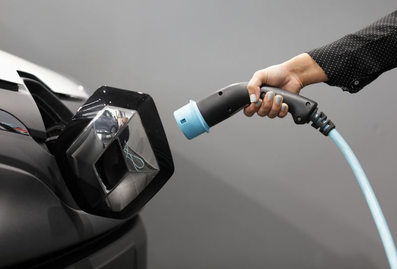
<svg viewBox="0 0 397 269"><path fill-rule="evenodd" d="M148 267L388 268L359 186L329 138L242 113L188 141L172 112L353 32L389 1L1 1L0 49L80 81L149 93L175 174L141 212ZM361 161L397 239L397 70L319 102Z"/></svg>

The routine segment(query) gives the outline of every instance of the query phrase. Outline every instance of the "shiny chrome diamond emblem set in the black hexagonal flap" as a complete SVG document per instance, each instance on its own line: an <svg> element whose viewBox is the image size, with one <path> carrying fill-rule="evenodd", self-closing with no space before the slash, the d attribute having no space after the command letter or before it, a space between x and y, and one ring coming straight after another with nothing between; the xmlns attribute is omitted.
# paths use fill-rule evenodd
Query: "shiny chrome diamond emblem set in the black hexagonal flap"
<svg viewBox="0 0 397 269"><path fill-rule="evenodd" d="M66 155L87 186L87 201L94 207L105 202L112 211L130 204L159 172L137 111L115 106L96 112ZM101 190L101 198L90 189Z"/></svg>

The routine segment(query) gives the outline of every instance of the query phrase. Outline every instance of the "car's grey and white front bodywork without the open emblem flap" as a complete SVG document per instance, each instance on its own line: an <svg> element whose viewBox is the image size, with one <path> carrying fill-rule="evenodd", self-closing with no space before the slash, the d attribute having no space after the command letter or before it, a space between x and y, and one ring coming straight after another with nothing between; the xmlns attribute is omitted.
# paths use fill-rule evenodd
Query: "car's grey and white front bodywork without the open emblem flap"
<svg viewBox="0 0 397 269"><path fill-rule="evenodd" d="M0 268L146 267L139 215L82 210L51 150L88 97L73 80L0 51ZM119 128L108 111L97 125L106 135Z"/></svg>

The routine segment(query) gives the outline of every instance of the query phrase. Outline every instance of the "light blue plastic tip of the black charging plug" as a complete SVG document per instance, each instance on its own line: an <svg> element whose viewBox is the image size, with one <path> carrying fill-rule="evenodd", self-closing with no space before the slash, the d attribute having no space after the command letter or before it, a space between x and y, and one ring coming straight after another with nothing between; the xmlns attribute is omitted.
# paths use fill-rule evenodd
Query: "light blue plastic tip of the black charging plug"
<svg viewBox="0 0 397 269"><path fill-rule="evenodd" d="M202 117L197 103L193 100L174 112L179 128L188 139L193 139L204 132L209 132L209 126Z"/></svg>

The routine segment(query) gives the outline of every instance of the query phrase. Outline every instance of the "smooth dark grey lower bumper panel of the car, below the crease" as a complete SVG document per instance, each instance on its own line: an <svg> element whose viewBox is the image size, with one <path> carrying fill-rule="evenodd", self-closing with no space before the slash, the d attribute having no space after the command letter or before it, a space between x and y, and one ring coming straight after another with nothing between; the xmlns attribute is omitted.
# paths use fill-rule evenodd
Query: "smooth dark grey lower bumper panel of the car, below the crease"
<svg viewBox="0 0 397 269"><path fill-rule="evenodd" d="M1 266L62 250L125 222L70 208L21 169L0 164L0 175Z"/></svg>

